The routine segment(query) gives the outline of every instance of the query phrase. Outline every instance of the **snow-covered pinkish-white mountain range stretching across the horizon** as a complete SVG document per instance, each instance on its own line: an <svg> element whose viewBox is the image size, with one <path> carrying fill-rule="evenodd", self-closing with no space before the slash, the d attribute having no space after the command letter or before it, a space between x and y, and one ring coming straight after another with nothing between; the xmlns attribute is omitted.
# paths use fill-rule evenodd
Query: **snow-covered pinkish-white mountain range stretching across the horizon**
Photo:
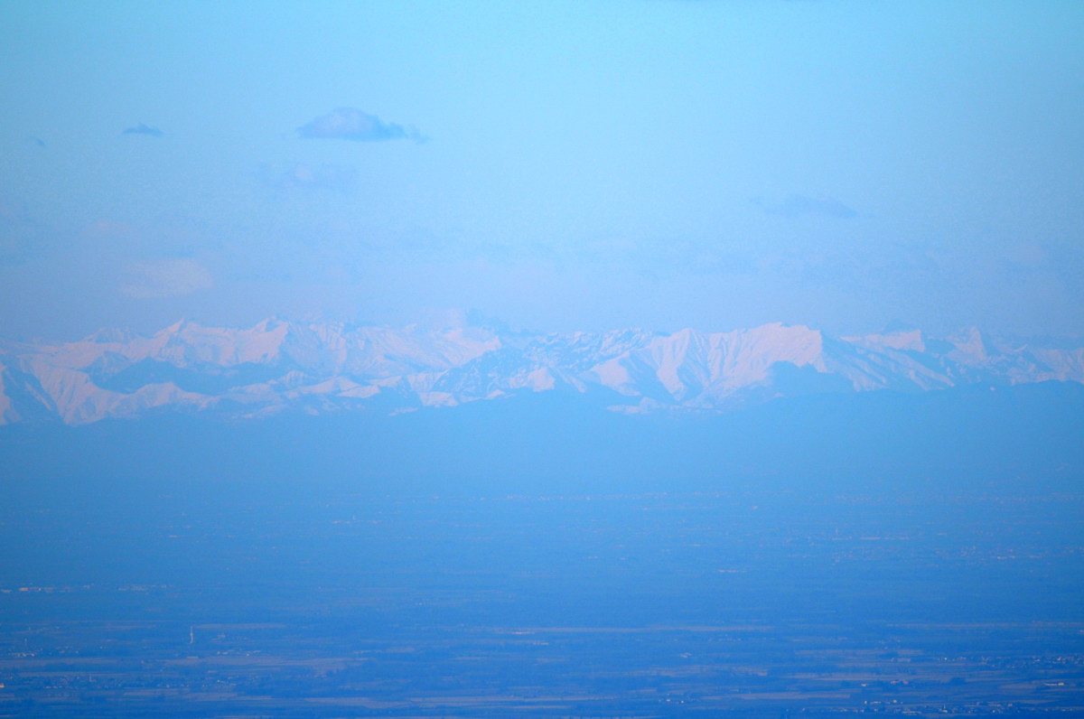
<svg viewBox="0 0 1084 719"><path fill-rule="evenodd" d="M532 334L465 321L384 328L268 319L182 321L153 335L0 342L0 423L204 413L385 414L532 393L625 413L715 413L780 397L1084 383L1084 346L898 330L834 337L806 326Z"/></svg>

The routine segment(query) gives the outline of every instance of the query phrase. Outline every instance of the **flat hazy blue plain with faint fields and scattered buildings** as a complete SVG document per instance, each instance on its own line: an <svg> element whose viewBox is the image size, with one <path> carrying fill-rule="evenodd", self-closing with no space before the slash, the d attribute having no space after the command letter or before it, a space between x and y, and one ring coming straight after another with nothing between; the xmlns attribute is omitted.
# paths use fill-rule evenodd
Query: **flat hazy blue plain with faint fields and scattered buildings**
<svg viewBox="0 0 1084 719"><path fill-rule="evenodd" d="M0 715L1084 711L1084 496L870 486L26 492Z"/></svg>

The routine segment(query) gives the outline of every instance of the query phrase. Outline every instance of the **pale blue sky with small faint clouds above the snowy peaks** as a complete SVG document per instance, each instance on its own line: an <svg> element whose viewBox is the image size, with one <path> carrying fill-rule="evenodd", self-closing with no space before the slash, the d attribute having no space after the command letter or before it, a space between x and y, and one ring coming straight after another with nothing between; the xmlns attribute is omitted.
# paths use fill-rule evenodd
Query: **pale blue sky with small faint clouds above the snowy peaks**
<svg viewBox="0 0 1084 719"><path fill-rule="evenodd" d="M0 97L0 336L1084 334L1080 2L12 1Z"/></svg>

